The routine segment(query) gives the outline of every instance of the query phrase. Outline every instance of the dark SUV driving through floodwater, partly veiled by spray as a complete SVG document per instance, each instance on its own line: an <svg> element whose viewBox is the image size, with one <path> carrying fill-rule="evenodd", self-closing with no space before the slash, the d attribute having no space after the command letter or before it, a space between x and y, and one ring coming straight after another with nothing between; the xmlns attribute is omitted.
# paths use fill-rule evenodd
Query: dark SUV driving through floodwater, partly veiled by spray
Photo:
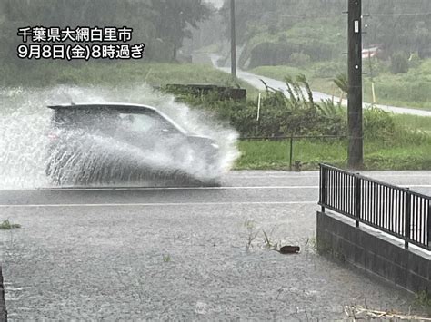
<svg viewBox="0 0 431 322"><path fill-rule="evenodd" d="M186 132L154 107L124 103L48 106L54 110L46 175L57 184L205 177L217 167L216 141Z"/></svg>

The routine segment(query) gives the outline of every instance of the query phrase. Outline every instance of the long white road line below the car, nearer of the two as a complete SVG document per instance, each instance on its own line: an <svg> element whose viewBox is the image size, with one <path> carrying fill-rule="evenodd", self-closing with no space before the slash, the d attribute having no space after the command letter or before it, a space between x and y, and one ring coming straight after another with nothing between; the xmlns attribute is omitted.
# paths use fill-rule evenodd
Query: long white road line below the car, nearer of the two
<svg viewBox="0 0 431 322"><path fill-rule="evenodd" d="M148 203L59 203L0 205L0 208L61 208L61 207L178 207L178 206L235 206L235 205L308 205L317 201L239 201L239 202L148 202Z"/></svg>

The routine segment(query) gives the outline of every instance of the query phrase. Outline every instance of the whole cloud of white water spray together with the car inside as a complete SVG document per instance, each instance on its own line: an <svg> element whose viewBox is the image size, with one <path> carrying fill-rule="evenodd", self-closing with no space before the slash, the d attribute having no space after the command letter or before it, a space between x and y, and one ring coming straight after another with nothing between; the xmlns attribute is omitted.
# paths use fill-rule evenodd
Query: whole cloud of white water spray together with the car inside
<svg viewBox="0 0 431 322"><path fill-rule="evenodd" d="M146 85L0 96L2 189L218 184L239 154L226 124Z"/></svg>

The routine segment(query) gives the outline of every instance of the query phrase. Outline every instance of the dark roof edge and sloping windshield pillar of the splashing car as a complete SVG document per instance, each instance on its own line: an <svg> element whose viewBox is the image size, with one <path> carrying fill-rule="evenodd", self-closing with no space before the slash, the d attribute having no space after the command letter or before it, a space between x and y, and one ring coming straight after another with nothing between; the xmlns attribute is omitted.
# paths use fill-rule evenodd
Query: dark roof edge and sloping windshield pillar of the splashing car
<svg viewBox="0 0 431 322"><path fill-rule="evenodd" d="M48 108L53 109L55 111L58 110L97 110L97 109L113 109L121 112L155 112L165 118L168 122L171 122L175 128L183 132L184 134L192 134L187 132L182 126L168 117L164 112L157 110L155 107L143 105L143 104L135 104L128 102L81 102L81 103L69 103L69 104L58 104L58 105L48 105Z"/></svg>

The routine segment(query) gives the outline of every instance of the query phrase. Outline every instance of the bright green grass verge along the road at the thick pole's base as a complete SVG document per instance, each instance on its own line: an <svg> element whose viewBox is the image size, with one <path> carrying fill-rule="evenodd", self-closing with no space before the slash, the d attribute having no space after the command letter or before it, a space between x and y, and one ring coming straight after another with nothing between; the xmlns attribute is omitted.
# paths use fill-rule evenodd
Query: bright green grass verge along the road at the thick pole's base
<svg viewBox="0 0 431 322"><path fill-rule="evenodd" d="M236 169L289 170L288 141L240 141L242 155ZM316 170L318 163L346 166L346 140L294 141L293 162L300 161L302 170ZM429 170L431 169L431 139L409 142L365 141L366 170Z"/></svg>

